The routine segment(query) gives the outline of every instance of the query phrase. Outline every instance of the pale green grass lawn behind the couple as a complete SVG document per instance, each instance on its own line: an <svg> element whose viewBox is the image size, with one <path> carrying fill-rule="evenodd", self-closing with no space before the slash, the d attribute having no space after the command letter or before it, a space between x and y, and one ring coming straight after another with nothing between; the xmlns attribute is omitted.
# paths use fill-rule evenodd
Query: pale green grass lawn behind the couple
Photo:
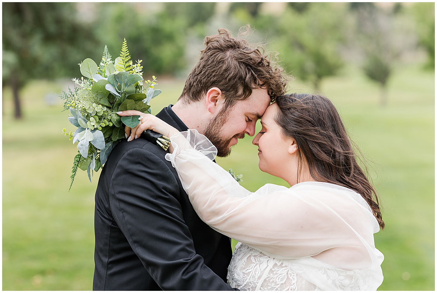
<svg viewBox="0 0 437 293"><path fill-rule="evenodd" d="M158 77L158 80L160 78ZM94 271L94 192L79 171L70 192L77 152L62 128L74 130L62 102L48 105L61 82L31 81L22 91L24 119L12 119L11 93L3 90L3 290L91 290ZM156 114L174 103L183 81L161 80L152 100ZM306 91L295 80L291 91ZM386 228L375 235L385 255L379 290L434 290L434 72L399 67L388 84L388 106L378 87L347 68L323 80L352 140L371 160ZM287 185L261 172L251 138L218 163L243 174L242 185Z"/></svg>

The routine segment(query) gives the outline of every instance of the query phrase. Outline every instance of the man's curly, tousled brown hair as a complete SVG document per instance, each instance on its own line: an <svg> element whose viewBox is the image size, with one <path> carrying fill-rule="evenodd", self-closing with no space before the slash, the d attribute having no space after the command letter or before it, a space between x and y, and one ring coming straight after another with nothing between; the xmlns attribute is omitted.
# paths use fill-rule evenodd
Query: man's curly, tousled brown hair
<svg viewBox="0 0 437 293"><path fill-rule="evenodd" d="M218 30L218 35L205 38L206 48L187 77L181 101L200 101L212 87L222 91L225 108L249 98L259 87L267 89L272 102L284 94L288 78L277 64L277 54L267 54L261 46L243 39L242 35L250 31L250 27L246 28L236 38L224 28Z"/></svg>

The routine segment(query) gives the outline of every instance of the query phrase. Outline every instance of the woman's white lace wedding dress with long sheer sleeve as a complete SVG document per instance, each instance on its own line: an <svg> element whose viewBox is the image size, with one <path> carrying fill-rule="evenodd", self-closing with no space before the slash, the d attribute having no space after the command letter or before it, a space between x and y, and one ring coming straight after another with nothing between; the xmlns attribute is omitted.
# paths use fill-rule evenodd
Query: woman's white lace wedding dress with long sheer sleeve
<svg viewBox="0 0 437 293"><path fill-rule="evenodd" d="M228 283L239 290L376 290L384 256L378 221L353 190L323 182L249 192L212 160L196 130L171 138L176 168L200 218L239 241Z"/></svg>

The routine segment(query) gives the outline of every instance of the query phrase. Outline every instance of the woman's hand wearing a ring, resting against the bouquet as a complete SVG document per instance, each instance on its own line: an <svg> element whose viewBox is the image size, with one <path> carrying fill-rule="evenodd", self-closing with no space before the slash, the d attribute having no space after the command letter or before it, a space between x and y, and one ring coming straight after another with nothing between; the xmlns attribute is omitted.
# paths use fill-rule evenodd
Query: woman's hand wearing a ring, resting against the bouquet
<svg viewBox="0 0 437 293"><path fill-rule="evenodd" d="M142 118L137 126L134 128L130 128L128 126L125 127L126 136L130 136L128 141L134 140L137 137L140 137L141 134L147 129L152 129L153 131L162 134L163 136L170 137L179 131L174 127L168 125L166 122L162 121L158 117L146 114L143 112L139 112L136 110L127 110L122 112L117 112L120 116L133 116L139 115Z"/></svg>

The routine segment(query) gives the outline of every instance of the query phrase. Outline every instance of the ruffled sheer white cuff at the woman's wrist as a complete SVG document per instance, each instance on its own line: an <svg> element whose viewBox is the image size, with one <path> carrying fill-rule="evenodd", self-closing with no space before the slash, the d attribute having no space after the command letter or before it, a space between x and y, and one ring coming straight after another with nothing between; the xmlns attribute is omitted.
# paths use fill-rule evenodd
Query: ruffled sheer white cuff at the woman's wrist
<svg viewBox="0 0 437 293"><path fill-rule="evenodd" d="M176 167L175 158L184 150L198 150L210 160L214 160L217 156L217 148L206 136L198 133L196 129L188 129L177 133L170 137L170 142L174 150L173 153L167 153L165 158L171 162L173 167Z"/></svg>

